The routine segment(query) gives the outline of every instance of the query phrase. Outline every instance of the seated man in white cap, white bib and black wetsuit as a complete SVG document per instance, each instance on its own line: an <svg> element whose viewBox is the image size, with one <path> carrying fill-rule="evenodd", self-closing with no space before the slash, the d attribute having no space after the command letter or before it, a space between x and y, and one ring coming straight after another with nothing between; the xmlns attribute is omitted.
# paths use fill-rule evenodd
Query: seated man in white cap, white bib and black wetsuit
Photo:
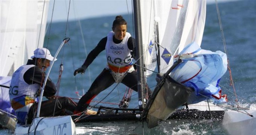
<svg viewBox="0 0 256 135"><path fill-rule="evenodd" d="M31 123L36 115L38 96L40 96L41 87L46 78L44 71L50 66L50 61L53 60L50 51L46 48L35 49L31 58L32 60L28 60L26 65L14 72L9 89L11 106L15 110L18 123L21 124ZM48 78L43 96L52 97L55 93L56 87ZM58 105L55 105L56 100ZM76 104L67 97L52 98L41 103L40 117L72 115L75 107Z"/></svg>

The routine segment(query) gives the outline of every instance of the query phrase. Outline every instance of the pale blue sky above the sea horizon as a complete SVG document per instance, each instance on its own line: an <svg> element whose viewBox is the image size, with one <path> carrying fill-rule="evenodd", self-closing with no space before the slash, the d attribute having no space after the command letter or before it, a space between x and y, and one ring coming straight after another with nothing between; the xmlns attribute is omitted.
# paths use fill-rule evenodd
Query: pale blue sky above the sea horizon
<svg viewBox="0 0 256 135"><path fill-rule="evenodd" d="M235 0L217 0L218 2ZM108 15L123 15L132 12L131 0L54 0L49 1L47 21L67 21L68 9L69 20L82 20L85 18L102 17ZM207 0L207 4L215 0ZM53 13L52 13L53 11Z"/></svg>

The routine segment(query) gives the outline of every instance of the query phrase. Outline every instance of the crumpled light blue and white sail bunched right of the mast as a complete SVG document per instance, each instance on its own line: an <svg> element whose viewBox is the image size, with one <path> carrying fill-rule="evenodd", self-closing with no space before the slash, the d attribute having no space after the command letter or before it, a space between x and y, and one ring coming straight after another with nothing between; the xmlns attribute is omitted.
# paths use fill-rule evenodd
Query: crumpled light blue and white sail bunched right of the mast
<svg viewBox="0 0 256 135"><path fill-rule="evenodd" d="M195 104L206 99L213 102L227 102L226 95L221 95L218 83L227 71L227 55L224 52L201 49L192 42L178 54L183 60L170 76L195 90L189 97L188 104Z"/></svg>

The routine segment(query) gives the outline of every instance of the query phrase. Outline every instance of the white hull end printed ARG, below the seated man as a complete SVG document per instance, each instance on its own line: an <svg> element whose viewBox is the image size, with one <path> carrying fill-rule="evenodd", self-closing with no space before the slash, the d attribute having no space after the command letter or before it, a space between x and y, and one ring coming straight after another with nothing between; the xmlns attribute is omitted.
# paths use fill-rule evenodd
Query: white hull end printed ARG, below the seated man
<svg viewBox="0 0 256 135"><path fill-rule="evenodd" d="M31 125L18 125L15 135L76 135L71 116L38 117Z"/></svg>

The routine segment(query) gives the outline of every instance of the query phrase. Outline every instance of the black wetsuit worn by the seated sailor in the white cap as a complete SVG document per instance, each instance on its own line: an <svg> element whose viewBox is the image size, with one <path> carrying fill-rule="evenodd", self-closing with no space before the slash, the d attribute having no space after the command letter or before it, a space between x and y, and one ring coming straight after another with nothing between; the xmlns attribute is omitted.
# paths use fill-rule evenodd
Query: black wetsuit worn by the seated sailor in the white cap
<svg viewBox="0 0 256 135"><path fill-rule="evenodd" d="M35 62L33 60L28 60L27 65L35 65ZM23 76L24 81L27 84L37 83L40 85L42 85L42 77L43 77L42 70L37 66L28 69ZM44 75L44 78L45 78L45 75ZM48 78L43 96L51 97L55 95L55 93L56 93L56 87L53 84L53 82L50 80L50 78ZM41 103L40 117L53 116L53 112L55 116L56 115L72 115L76 107L76 104L73 103L72 100L67 97L58 98L58 102L56 105L55 103L56 103L56 98L43 101ZM37 110L37 107L38 107L38 103L35 102L30 108L28 113L27 123L30 123L32 121L32 118L34 117L35 112Z"/></svg>

